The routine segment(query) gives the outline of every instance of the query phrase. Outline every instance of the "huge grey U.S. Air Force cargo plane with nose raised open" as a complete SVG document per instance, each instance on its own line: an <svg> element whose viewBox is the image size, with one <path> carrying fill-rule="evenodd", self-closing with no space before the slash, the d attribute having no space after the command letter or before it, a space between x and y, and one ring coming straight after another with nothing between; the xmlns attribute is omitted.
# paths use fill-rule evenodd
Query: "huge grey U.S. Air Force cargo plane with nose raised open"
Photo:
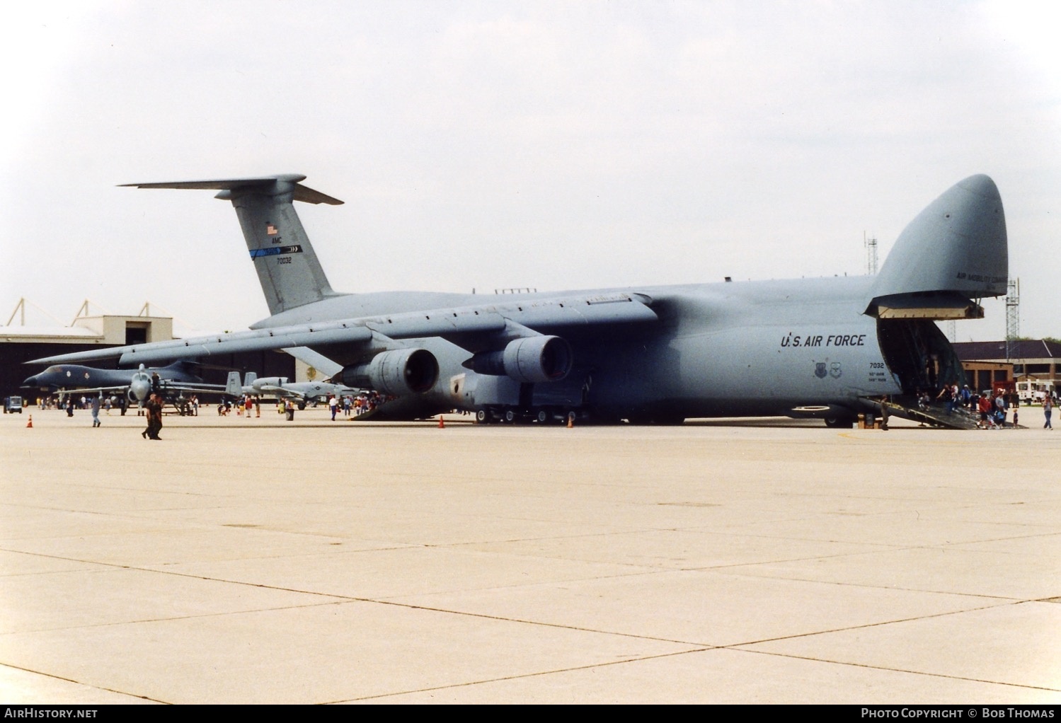
<svg viewBox="0 0 1061 723"><path fill-rule="evenodd" d="M333 381L398 399L375 419L454 408L480 421L818 417L850 426L890 395L962 383L940 319L1006 293L995 183L971 176L900 234L881 272L504 295L332 290L294 201L341 204L300 175L133 183L231 201L272 316L251 331L64 354L123 364L264 349L331 360ZM309 348L309 351L306 348ZM912 412L910 412L912 416Z"/></svg>

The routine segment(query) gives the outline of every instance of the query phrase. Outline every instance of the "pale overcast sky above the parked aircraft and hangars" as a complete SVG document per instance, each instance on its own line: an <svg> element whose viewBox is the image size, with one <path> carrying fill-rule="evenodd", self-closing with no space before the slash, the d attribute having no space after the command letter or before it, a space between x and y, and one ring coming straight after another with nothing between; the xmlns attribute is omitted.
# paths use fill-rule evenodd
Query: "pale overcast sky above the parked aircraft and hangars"
<svg viewBox="0 0 1061 723"><path fill-rule="evenodd" d="M1021 332L1061 336L1059 7L13 4L0 323L267 316L230 204L118 183L301 173L346 201L297 205L337 290L492 293L860 275L986 173Z"/></svg>

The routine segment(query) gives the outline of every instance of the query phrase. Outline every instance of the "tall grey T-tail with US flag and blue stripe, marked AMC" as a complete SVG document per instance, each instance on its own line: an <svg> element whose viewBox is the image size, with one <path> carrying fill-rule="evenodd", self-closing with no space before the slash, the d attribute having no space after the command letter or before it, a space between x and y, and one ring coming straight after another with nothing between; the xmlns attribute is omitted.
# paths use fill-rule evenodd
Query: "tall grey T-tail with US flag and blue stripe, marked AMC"
<svg viewBox="0 0 1061 723"><path fill-rule="evenodd" d="M269 314L338 296L332 290L294 201L338 205L343 201L299 183L306 176L284 174L163 183L125 183L138 189L215 190L232 201Z"/></svg>

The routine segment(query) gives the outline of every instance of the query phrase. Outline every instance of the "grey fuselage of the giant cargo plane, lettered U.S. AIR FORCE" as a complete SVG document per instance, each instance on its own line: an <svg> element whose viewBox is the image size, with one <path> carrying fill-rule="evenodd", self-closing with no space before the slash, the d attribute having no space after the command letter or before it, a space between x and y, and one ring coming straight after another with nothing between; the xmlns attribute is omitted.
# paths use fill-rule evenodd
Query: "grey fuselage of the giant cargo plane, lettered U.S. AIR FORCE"
<svg viewBox="0 0 1061 723"><path fill-rule="evenodd" d="M469 352L445 339L413 340L438 358L439 376L430 392L401 406L419 405L424 416L498 403L547 403L619 419L824 416L827 410L853 415L867 407L868 398L904 390L882 350L879 321L866 314L872 281L872 277L841 277L589 292L648 298L658 320L567 335L575 358L568 378L536 384L529 390L466 369L462 364ZM566 294L588 292L495 298L499 303L533 303L536 298ZM489 311L490 298L418 292L337 295L253 328L418 310ZM334 355L336 350L320 351Z"/></svg>

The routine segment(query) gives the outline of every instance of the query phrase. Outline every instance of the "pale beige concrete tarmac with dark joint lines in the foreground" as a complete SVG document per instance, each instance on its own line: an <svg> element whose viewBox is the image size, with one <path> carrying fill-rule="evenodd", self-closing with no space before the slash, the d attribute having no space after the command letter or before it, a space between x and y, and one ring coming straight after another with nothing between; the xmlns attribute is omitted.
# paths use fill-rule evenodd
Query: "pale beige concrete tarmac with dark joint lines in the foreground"
<svg viewBox="0 0 1061 723"><path fill-rule="evenodd" d="M1061 433L1036 408L1002 431L266 409L159 442L117 412L0 419L0 701L1061 703Z"/></svg>

